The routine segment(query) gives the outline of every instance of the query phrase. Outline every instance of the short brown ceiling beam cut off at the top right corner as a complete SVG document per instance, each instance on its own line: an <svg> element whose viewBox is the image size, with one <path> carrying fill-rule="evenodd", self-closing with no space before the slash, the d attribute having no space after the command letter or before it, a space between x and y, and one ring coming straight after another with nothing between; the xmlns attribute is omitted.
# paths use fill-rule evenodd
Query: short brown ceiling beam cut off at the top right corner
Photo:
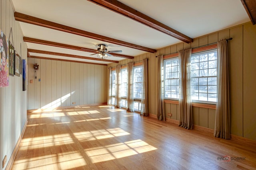
<svg viewBox="0 0 256 170"><path fill-rule="evenodd" d="M256 1L255 0L241 0L244 9L246 10L252 25L256 23Z"/></svg>

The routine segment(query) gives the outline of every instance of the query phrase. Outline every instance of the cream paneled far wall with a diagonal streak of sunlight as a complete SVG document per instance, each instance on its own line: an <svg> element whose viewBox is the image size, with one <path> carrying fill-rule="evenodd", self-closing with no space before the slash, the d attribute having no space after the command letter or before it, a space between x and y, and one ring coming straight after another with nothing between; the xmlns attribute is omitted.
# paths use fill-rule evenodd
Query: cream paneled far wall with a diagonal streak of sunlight
<svg viewBox="0 0 256 170"><path fill-rule="evenodd" d="M36 72L34 63L39 64ZM28 109L107 102L106 70L102 65L28 58Z"/></svg>

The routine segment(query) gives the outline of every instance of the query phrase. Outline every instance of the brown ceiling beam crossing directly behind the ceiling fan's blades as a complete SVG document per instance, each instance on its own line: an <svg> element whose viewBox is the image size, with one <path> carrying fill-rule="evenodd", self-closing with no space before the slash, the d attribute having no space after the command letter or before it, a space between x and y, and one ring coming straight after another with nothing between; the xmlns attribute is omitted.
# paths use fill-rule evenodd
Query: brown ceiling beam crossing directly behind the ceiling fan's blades
<svg viewBox="0 0 256 170"><path fill-rule="evenodd" d="M88 48L84 48L84 47L78 47L78 46L74 46L74 45L56 43L56 42L52 42L52 41L45 41L45 40L29 38L29 37L23 37L23 41L28 42L28 43L37 43L37 44L42 44L42 45L50 45L53 47L61 47L61 48L66 48L66 49L85 51L85 52L89 52L89 53L95 53L95 51L96 51L95 49L88 49ZM134 59L133 56L129 56L129 55L122 55L122 54L117 54L117 53L109 53L109 54L111 54L115 57Z"/></svg>

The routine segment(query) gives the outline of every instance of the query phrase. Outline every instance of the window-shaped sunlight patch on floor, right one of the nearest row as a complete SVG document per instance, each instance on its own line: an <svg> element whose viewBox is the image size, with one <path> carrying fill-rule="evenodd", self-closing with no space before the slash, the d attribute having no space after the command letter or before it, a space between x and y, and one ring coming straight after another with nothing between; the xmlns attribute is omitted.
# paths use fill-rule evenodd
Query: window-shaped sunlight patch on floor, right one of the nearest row
<svg viewBox="0 0 256 170"><path fill-rule="evenodd" d="M85 152L89 156L92 163L97 163L118 158L124 158L127 156L132 156L143 152L149 152L156 149L157 148L138 139L124 143L106 145L103 147L89 148L85 149Z"/></svg>

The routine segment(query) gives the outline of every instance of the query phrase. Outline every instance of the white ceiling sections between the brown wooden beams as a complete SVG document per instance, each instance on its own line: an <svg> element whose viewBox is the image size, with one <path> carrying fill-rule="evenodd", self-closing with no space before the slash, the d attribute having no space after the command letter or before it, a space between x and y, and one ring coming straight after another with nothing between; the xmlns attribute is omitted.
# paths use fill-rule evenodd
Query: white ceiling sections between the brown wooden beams
<svg viewBox="0 0 256 170"><path fill-rule="evenodd" d="M250 21L240 0L119 0L155 20L191 37L206 35L220 29ZM12 0L16 12L44 20L60 23L84 31L119 39L136 45L159 49L180 40L138 23L130 18L116 14L87 0ZM121 54L136 56L144 51L102 42L99 40L74 35L54 29L20 22L24 37L42 39L90 49L97 49L97 44L105 43L107 49L122 50ZM58 53L67 53L86 57L92 53L27 43L29 49L38 49ZM40 57L63 58L91 63L108 62L73 59L30 53ZM120 61L121 57L108 57Z"/></svg>

